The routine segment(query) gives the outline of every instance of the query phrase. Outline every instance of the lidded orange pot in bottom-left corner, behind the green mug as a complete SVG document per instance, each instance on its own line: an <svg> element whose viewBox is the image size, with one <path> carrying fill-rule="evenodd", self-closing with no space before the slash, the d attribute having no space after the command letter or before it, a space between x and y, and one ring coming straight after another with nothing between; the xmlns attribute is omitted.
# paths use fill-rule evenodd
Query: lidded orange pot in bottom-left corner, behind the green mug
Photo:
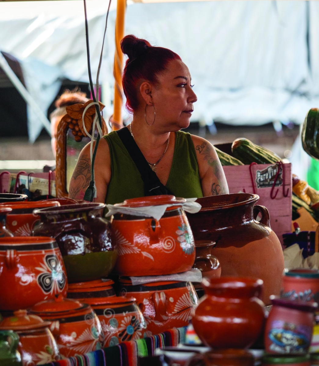
<svg viewBox="0 0 319 366"><path fill-rule="evenodd" d="M18 333L18 351L23 366L44 365L60 359L58 345L48 329L49 324L40 317L27 315L26 310L15 311L13 317L4 318L0 323L0 330L11 329Z"/></svg>

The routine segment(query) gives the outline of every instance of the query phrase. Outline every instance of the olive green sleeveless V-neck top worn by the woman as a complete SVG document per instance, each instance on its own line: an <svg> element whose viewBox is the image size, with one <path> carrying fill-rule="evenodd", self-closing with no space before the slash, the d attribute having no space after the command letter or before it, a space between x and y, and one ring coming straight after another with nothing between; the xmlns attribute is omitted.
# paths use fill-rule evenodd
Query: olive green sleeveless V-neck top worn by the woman
<svg viewBox="0 0 319 366"><path fill-rule="evenodd" d="M105 203L114 204L143 197L144 182L118 134L113 131L103 137L110 147L111 156L111 180ZM189 133L176 132L173 163L166 187L176 197L203 197L196 152Z"/></svg>

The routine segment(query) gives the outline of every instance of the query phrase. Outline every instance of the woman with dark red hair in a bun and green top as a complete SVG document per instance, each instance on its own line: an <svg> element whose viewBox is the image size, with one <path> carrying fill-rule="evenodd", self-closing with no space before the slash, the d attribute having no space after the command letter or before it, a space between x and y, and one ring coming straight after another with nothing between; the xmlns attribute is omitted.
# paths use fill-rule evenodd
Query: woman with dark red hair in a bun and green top
<svg viewBox="0 0 319 366"><path fill-rule="evenodd" d="M181 131L189 126L197 101L188 67L175 52L132 35L123 38L121 48L128 56L122 82L133 120L99 142L94 164L95 201L118 203L157 193L159 186L162 193L184 198L229 193L211 143ZM135 157L131 149L137 149ZM155 172L152 179L158 182L150 189L140 168L145 160L144 172L149 170L148 176ZM69 197L84 197L90 166L88 145L79 156Z"/></svg>

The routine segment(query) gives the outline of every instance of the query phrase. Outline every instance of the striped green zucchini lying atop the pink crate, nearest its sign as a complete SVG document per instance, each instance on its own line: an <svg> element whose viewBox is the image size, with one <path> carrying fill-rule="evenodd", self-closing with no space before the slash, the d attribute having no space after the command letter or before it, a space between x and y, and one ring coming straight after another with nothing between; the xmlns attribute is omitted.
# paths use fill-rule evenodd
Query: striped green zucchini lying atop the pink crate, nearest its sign
<svg viewBox="0 0 319 366"><path fill-rule="evenodd" d="M257 164L275 164L282 159L274 152L265 147L255 145L246 138L237 138L231 145L231 151L235 158L242 163L249 165Z"/></svg>

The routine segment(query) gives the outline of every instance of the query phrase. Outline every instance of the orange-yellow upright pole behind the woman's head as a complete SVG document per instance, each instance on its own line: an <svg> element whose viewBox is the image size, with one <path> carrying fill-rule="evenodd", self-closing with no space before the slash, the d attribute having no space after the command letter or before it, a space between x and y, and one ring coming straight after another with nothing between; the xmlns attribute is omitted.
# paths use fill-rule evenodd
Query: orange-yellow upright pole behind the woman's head
<svg viewBox="0 0 319 366"><path fill-rule="evenodd" d="M123 72L123 53L120 47L120 42L124 37L125 30L125 11L126 0L117 0L116 8L116 23L115 23L115 56L113 75L114 83L114 114L112 126L113 130L118 130L118 126L122 126L122 104L123 104L123 87L122 87L122 72Z"/></svg>

